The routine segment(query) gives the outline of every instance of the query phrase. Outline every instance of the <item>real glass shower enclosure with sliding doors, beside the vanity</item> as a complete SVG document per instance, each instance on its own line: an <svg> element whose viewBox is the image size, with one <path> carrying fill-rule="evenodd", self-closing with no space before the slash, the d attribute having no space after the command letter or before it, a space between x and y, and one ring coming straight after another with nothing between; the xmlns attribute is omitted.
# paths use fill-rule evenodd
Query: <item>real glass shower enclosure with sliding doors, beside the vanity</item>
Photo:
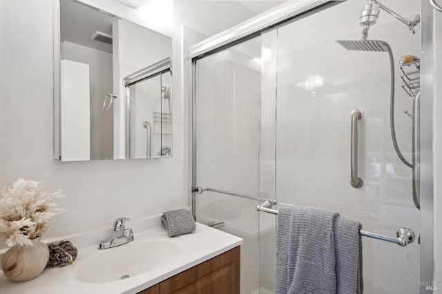
<svg viewBox="0 0 442 294"><path fill-rule="evenodd" d="M420 231L412 169L392 142L389 54L348 51L336 42L361 39L358 14L364 3L289 2L294 15L218 48L207 42L188 51L193 210L198 222L244 239L241 293L247 294L274 291L276 218L256 211L259 199L338 211L359 220L364 230L392 237L402 227L416 238ZM419 1L382 2L405 19L419 14ZM392 49L394 132L407 162L413 155L416 92L403 87L399 61L419 59L419 25L415 31L381 12L368 36ZM355 155L360 187L350 184L355 109L363 112ZM366 293L416 293L418 242L401 247L363 237L363 278Z"/></svg>

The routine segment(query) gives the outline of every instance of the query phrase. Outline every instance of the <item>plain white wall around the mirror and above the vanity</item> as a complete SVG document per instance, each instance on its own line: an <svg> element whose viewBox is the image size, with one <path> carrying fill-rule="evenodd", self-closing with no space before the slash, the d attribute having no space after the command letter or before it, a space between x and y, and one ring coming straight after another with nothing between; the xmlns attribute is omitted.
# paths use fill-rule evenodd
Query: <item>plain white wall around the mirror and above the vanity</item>
<svg viewBox="0 0 442 294"><path fill-rule="evenodd" d="M182 132L174 134L174 156L165 160L53 159L53 5L53 0L0 1L0 187L23 177L44 180L46 189L63 189L60 205L67 211L52 222L46 238L110 227L118 216L186 206ZM180 71L176 74L179 81ZM176 94L182 94L180 87ZM182 101L174 101L178 130ZM0 248L6 248L3 241Z"/></svg>

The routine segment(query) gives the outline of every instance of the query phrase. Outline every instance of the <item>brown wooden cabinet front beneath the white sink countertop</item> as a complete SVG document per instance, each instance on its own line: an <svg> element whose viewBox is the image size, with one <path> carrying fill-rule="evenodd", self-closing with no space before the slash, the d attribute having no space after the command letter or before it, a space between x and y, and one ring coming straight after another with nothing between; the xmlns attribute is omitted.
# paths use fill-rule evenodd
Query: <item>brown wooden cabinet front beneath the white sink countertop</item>
<svg viewBox="0 0 442 294"><path fill-rule="evenodd" d="M240 246L138 294L239 294Z"/></svg>

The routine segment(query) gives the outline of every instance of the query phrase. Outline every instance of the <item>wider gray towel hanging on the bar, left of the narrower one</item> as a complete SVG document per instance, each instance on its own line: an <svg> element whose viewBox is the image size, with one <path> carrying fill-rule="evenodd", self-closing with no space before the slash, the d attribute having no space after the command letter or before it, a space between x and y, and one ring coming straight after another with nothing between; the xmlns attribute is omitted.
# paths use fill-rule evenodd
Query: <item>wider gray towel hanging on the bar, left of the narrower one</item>
<svg viewBox="0 0 442 294"><path fill-rule="evenodd" d="M336 215L314 207L279 209L275 293L336 293L336 262L330 258Z"/></svg>

